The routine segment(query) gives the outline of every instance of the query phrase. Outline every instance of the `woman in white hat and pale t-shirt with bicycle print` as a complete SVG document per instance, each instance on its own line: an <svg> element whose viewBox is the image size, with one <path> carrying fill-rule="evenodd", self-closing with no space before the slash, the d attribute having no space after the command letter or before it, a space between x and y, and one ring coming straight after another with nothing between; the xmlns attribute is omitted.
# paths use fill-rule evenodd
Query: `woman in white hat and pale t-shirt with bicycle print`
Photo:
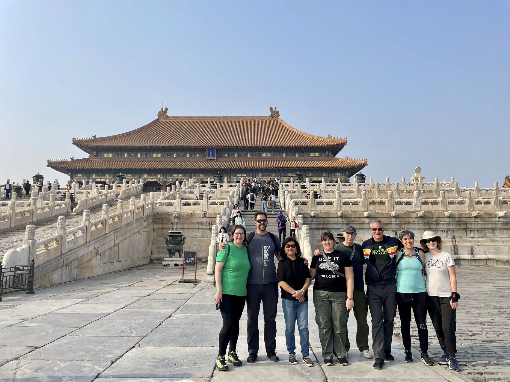
<svg viewBox="0 0 510 382"><path fill-rule="evenodd" d="M420 244L425 253L427 311L444 353L438 363L448 364L451 370L458 371L455 313L460 295L457 293L455 261L451 254L442 251L441 237L432 231L423 233Z"/></svg>

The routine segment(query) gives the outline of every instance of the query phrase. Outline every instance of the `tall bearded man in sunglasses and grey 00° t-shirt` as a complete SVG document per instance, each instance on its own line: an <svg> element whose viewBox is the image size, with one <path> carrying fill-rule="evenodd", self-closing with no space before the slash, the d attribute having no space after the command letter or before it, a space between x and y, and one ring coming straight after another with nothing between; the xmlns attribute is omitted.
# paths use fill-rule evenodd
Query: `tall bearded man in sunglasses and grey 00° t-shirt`
<svg viewBox="0 0 510 382"><path fill-rule="evenodd" d="M247 237L248 259L251 264L246 286L246 311L248 313L248 358L252 363L257 361L259 353L259 312L262 303L264 310L264 342L266 354L271 361L279 361L276 355L276 311L278 307L278 283L276 282L276 266L274 256L282 260L279 252L282 245L275 235L267 231L267 213L256 212L253 224L257 231L250 232ZM225 244L220 243L220 250ZM308 261L305 260L308 266Z"/></svg>

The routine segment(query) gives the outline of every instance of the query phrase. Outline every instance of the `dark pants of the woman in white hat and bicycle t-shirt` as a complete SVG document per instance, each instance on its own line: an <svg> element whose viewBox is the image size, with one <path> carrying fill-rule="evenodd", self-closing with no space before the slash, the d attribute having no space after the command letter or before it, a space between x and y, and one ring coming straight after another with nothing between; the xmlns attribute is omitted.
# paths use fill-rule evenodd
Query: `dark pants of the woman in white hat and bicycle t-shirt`
<svg viewBox="0 0 510 382"><path fill-rule="evenodd" d="M457 352L455 330L456 310L451 309L450 297L427 296L427 310L438 336L441 350L450 357Z"/></svg>

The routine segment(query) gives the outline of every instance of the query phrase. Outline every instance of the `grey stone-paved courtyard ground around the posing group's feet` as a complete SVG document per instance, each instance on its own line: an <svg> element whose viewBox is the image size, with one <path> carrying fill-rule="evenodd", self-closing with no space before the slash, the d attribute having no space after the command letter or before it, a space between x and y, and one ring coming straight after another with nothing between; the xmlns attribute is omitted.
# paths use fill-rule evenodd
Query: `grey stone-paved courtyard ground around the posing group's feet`
<svg viewBox="0 0 510 382"><path fill-rule="evenodd" d="M190 271L185 278L193 278ZM202 264L198 278L204 271ZM508 380L510 268L464 266L457 274L462 294L457 316L461 373L437 364L427 367L417 362L415 350L415 363L404 363L398 328L393 344L396 360L383 370L373 369L373 360L363 359L356 348L349 352L349 366L323 366L312 303L309 327L315 367L286 362L279 307L276 351L282 361L265 357L262 340L258 362L244 361L248 355L244 314L238 342L243 366L229 364L227 372L215 371L221 316L213 303L214 289L177 284L182 270L152 264L39 289L34 295L4 295L0 382ZM355 339L354 319L349 321L349 337L351 342ZM441 355L433 331L429 341L430 352Z"/></svg>

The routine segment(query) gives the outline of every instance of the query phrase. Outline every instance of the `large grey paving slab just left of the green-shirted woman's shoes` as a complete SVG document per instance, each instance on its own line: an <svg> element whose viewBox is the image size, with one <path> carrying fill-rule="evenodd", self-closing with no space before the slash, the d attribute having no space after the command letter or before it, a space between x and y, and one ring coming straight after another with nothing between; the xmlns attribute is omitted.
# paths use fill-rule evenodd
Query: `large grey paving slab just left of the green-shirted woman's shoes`
<svg viewBox="0 0 510 382"><path fill-rule="evenodd" d="M210 378L216 347L135 347L100 376L108 378Z"/></svg>

